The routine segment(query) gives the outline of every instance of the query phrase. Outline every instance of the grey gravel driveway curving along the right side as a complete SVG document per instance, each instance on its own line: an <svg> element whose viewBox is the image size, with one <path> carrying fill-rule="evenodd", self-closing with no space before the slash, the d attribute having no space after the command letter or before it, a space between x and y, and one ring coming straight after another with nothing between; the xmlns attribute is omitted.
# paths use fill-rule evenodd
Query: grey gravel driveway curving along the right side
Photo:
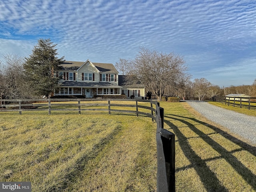
<svg viewBox="0 0 256 192"><path fill-rule="evenodd" d="M204 101L186 100L186 102L209 120L256 144L256 117L240 114Z"/></svg>

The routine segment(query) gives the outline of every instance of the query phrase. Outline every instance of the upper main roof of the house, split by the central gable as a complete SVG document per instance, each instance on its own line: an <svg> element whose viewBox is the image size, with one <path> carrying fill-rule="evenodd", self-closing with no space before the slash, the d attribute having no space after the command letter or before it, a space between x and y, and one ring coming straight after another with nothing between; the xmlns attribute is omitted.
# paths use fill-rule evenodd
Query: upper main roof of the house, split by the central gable
<svg viewBox="0 0 256 192"><path fill-rule="evenodd" d="M60 65L60 70L78 70L85 62L80 61L64 61ZM108 72L108 73L118 73L116 68L112 63L94 63L94 66L100 71L100 72Z"/></svg>

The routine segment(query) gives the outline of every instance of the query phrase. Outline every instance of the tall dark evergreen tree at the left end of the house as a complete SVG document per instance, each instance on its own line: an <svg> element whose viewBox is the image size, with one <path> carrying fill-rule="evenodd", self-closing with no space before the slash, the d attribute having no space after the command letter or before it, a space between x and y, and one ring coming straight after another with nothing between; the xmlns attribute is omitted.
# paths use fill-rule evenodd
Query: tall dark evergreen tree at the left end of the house
<svg viewBox="0 0 256 192"><path fill-rule="evenodd" d="M48 96L59 86L54 71L64 61L64 56L57 57L56 45L50 39L39 39L32 54L25 58L24 69L34 96Z"/></svg>

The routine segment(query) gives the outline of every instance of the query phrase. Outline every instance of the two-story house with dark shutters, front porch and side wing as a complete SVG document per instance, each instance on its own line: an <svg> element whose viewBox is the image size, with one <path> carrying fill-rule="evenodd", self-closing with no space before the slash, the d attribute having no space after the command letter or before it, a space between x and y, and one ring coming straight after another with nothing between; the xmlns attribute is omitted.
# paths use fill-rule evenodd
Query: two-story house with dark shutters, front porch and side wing
<svg viewBox="0 0 256 192"><path fill-rule="evenodd" d="M100 95L129 95L130 90L136 98L144 97L144 86L140 89L123 87L118 84L118 71L110 63L65 61L56 72L60 77L60 89L54 95L84 95L93 98Z"/></svg>

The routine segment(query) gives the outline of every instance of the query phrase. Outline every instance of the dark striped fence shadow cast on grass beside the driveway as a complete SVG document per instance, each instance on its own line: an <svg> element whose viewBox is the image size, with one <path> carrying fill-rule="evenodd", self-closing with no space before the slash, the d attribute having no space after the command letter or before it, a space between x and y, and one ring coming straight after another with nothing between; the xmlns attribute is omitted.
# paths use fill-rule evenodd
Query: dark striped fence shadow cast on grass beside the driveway
<svg viewBox="0 0 256 192"><path fill-rule="evenodd" d="M244 164L242 164L239 160L237 160L236 157L233 156L233 154L232 154L236 151L247 150L251 154L256 156L256 148L255 147L248 145L247 143L235 138L234 136L224 132L223 130L221 130L215 126L212 126L210 124L207 124L206 122L202 122L195 118L187 118L184 116L178 116L178 115L173 115L173 114L165 115L164 118L165 118L164 122L173 130L174 134L177 137L176 139L178 139L180 147L181 147L182 151L184 152L184 155L186 156L186 158L188 158L188 160L191 163L189 166L185 166L185 167L176 169L176 172L180 171L180 170L186 170L187 168L194 168L207 191L227 191L227 189L223 185L221 185L221 182L216 177L216 174L214 174L214 172L212 172L212 170L210 170L206 164L206 162L208 162L208 161L224 158L234 168L234 170L236 170L236 172L238 174L240 174L242 176L242 178L244 178L244 180L250 186L252 186L252 188L254 190L256 190L256 182L255 182L256 175L254 175L248 168L246 168L246 166L244 166ZM210 159L204 159L204 160L201 159L200 156L198 156L196 154L196 152L194 150L192 150L190 144L188 143L188 138L186 138L184 136L184 134L182 134L182 132L179 130L179 127L174 125L170 120L166 120L166 119L177 120L177 121L180 121L180 122L186 124L193 132L198 134L198 136L200 138L202 138L202 140L204 140L204 142L206 142L214 150L216 150L220 154L220 156L210 158ZM202 132L201 130L196 128L193 124L186 121L186 119L188 119L190 121L192 120L198 124L207 126L208 128L210 128L210 129L214 130L215 132L217 132L218 134L222 135L224 138L226 138L226 139L232 141L233 143L237 144L238 146L240 146L241 149L237 149L237 150L233 150L233 151L226 150L224 147L222 147L220 144L218 144L216 141L214 141L212 138L210 138L210 136L209 136L210 134L205 134L204 132Z"/></svg>

